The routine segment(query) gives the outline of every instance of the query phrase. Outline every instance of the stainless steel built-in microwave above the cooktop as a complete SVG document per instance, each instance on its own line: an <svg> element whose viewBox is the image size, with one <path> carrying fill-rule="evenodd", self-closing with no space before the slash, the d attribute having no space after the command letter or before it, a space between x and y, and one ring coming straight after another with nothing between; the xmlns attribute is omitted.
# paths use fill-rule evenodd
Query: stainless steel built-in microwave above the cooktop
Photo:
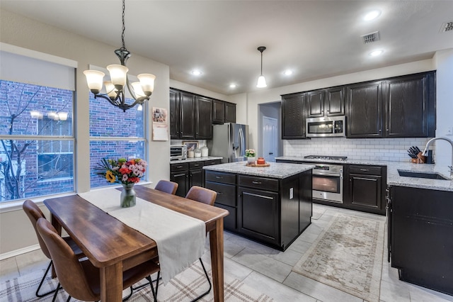
<svg viewBox="0 0 453 302"><path fill-rule="evenodd" d="M324 138L328 136L346 136L345 116L306 119L307 138Z"/></svg>

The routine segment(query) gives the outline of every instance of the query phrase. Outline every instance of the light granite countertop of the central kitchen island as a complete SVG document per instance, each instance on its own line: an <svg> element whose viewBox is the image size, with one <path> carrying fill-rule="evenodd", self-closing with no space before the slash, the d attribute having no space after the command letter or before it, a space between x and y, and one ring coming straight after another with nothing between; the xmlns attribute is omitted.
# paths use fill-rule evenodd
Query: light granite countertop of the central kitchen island
<svg viewBox="0 0 453 302"><path fill-rule="evenodd" d="M314 168L313 164L287 164L282 162L270 162L269 164L269 167L248 167L246 166L246 162L230 162L228 164L214 164L212 166L203 167L203 169L285 179Z"/></svg>

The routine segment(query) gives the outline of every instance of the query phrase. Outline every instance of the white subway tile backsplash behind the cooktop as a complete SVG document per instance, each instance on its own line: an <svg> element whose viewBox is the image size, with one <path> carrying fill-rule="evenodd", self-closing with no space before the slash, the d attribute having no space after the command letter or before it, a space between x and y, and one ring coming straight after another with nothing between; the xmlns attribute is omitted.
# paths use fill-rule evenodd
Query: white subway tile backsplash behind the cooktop
<svg viewBox="0 0 453 302"><path fill-rule="evenodd" d="M311 140L283 140L284 156L305 155L347 156L351 160L386 160L409 162L408 149L425 149L430 138L311 138ZM431 149L431 147L430 147Z"/></svg>

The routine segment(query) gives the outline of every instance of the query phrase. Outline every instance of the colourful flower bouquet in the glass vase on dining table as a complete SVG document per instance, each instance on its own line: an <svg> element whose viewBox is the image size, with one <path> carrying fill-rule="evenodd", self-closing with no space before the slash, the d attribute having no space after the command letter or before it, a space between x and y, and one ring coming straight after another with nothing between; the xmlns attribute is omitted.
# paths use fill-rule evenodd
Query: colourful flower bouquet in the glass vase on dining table
<svg viewBox="0 0 453 302"><path fill-rule="evenodd" d="M96 167L96 174L105 177L107 181L121 184L137 184L147 170L148 163L139 158L117 160L103 158Z"/></svg>

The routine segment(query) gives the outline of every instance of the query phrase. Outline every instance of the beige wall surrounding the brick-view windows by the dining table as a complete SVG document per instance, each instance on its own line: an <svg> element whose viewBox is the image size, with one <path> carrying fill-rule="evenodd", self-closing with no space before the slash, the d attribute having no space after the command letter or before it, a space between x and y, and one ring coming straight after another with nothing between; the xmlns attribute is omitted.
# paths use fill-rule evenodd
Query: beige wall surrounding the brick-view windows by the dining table
<svg viewBox="0 0 453 302"><path fill-rule="evenodd" d="M80 35L4 10L0 10L0 41L78 62L74 112L76 112L78 121L81 121L81 123L75 125L76 174L79 176L76 191L88 191L89 162L86 160L86 155L89 155L89 90L82 72L88 69L90 64L106 66L119 62L114 53L117 47L89 40ZM130 69L130 74L149 72L156 75L151 106L148 106L149 111L151 111L152 106L167 108L168 110L169 67L134 54L128 60L127 67ZM106 105L106 108L108 106L110 105ZM149 112L149 116L151 116L151 112ZM148 133L150 139L151 129ZM149 179L154 184L159 179L169 179L170 177L169 145L170 140L167 142L149 142ZM2 211L0 213L0 258L2 255L7 255L8 252L20 250L36 243L34 230L21 207L16 208L15 211Z"/></svg>

